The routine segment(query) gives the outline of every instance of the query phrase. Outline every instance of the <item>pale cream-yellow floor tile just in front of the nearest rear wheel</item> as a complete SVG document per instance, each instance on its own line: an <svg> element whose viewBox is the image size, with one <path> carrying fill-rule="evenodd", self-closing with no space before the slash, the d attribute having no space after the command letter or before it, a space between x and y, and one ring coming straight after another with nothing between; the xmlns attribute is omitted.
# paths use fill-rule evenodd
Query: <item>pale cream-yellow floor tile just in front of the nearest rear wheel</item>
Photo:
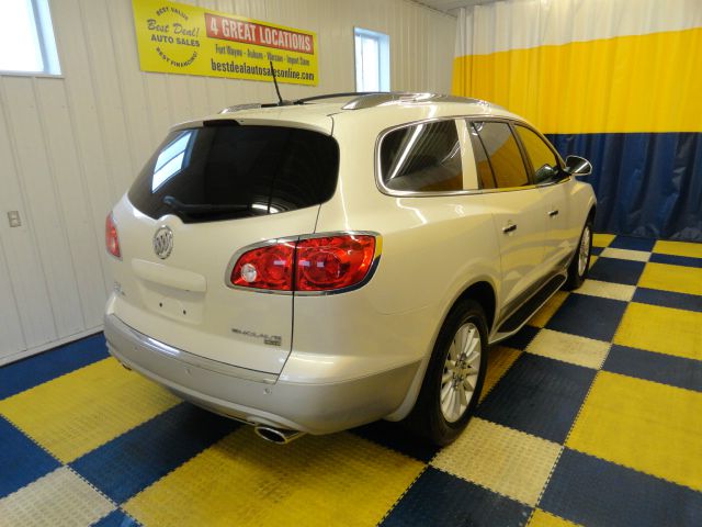
<svg viewBox="0 0 702 527"><path fill-rule="evenodd" d="M431 464L494 492L535 505L561 445L474 417Z"/></svg>

